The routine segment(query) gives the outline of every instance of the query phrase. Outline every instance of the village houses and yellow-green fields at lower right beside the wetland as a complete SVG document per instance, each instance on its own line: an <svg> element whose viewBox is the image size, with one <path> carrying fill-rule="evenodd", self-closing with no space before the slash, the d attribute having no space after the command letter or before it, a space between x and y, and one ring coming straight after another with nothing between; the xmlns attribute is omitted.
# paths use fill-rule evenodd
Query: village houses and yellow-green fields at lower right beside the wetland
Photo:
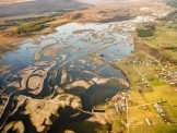
<svg viewBox="0 0 177 133"><path fill-rule="evenodd" d="M118 65L131 81L126 108L128 132L133 133L135 129L143 131L153 125L164 129L175 126L177 116L173 110L177 106L176 65L137 56L125 58Z"/></svg>

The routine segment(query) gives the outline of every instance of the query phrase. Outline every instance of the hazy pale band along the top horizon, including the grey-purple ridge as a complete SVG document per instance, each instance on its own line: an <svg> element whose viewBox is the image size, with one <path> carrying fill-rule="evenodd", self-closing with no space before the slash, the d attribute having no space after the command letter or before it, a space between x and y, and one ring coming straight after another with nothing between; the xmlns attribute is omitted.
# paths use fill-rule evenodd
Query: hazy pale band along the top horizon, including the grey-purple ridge
<svg viewBox="0 0 177 133"><path fill-rule="evenodd" d="M87 8L92 5L130 5L130 2L142 0L0 0L0 17L58 12Z"/></svg>

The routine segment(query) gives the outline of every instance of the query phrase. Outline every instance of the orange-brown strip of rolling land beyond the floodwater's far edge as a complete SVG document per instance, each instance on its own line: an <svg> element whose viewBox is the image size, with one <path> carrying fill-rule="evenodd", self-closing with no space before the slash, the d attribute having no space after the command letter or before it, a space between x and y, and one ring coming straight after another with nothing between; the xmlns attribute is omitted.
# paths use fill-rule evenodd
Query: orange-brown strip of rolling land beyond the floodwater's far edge
<svg viewBox="0 0 177 133"><path fill-rule="evenodd" d="M55 19L51 20L51 22L45 22L42 23L42 25L47 25L47 27L27 33L24 35L16 34L15 31L19 25L23 25L25 23L34 23L35 19L30 14L30 16L26 17L26 15L23 15L23 17L19 17L17 21L22 21L22 24L16 23L13 17L12 20L9 20L8 22L14 23L15 25L7 25L4 26L4 29L0 31L0 48L1 48L1 53L3 52L3 49L5 51L13 50L14 48L19 47L20 45L12 46L12 44L19 44L24 41L25 39L28 38L35 38L40 35L46 35L46 34L51 34L54 33L57 26L70 23L70 22L79 22L79 23L108 23L108 22L117 22L117 21L125 21L125 20L131 20L132 17L139 16L139 15L153 15L153 12L156 10L160 10L160 13L156 15L163 15L161 12L164 12L158 4L150 4L150 5L139 5L135 4L134 7L140 8L140 7L146 7L146 10L142 10L140 8L140 13L137 13L137 9L133 7L127 7L128 9L125 9L125 7L118 5L117 8L113 10L113 5L108 4L107 7L105 5L96 5L96 7L91 7L91 8L84 8L84 9L76 9L76 10L71 10L71 11L61 11L58 13L45 13L45 14L38 14L39 16L35 16L36 19L40 19L44 16ZM164 5L163 5L164 7ZM151 13L151 8L157 8L153 9L154 11ZM149 9L149 10L148 10ZM122 10L122 11L121 11ZM130 10L130 11L129 11ZM174 9L169 9L169 7L165 7L165 12L170 13ZM48 15L47 15L48 14ZM93 15L95 14L95 15ZM111 15L110 15L111 14ZM23 20L27 19L26 21L23 22ZM31 20L32 19L32 20ZM37 19L37 20L38 20ZM5 22L7 23L7 22ZM2 26L2 25L1 25ZM5 44L4 44L5 43ZM12 47L12 48L11 48ZM0 53L0 55L1 55Z"/></svg>

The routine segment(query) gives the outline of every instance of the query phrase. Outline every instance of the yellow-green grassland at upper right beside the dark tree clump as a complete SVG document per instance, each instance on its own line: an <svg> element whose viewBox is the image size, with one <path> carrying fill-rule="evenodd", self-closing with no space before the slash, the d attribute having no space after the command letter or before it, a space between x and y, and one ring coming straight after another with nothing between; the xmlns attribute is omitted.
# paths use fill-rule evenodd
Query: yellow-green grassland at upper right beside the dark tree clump
<svg viewBox="0 0 177 133"><path fill-rule="evenodd" d="M158 23L155 26L153 36L148 36L149 34L150 35L152 34L150 31L149 31L150 33L149 32L146 33L144 32L144 28L142 27L138 28L137 32L139 36L139 41L137 41L137 44L138 43L141 45L145 44L149 47L158 50L161 56L157 55L158 56L156 57L157 59L168 60L170 62L176 63L177 29L172 27L176 27L176 23L168 23L168 22Z"/></svg>

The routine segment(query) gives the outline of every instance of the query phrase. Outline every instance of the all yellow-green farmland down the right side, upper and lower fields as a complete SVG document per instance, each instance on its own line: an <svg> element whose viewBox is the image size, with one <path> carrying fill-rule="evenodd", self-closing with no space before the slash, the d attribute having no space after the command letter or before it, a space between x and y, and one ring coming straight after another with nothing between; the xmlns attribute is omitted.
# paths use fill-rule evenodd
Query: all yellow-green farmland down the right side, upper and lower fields
<svg viewBox="0 0 177 133"><path fill-rule="evenodd" d="M174 25L174 24L173 24ZM139 45L148 45L152 49L156 49L161 52L163 60L162 65L166 64L166 60L174 63L177 60L177 52L173 49L162 49L162 47L177 47L177 31L169 28L167 25L157 25L154 36L139 37ZM141 47L141 46L140 46ZM166 51L172 57L167 58ZM118 62L118 65L127 74L130 81L131 88L129 94L131 99L129 100L128 120L130 133L176 133L177 132L177 92L175 86L169 85L165 80L158 77L158 73L164 68L160 63L152 64L150 59L161 59L155 57L146 50L137 48L134 50L134 57L125 58ZM144 60L143 63L129 64L127 62L133 62L137 58ZM165 69L168 71L176 71L176 65L168 65ZM150 86L145 87L144 83L149 83ZM141 90L137 89L141 88ZM154 102L161 102L161 106L170 118L172 123L164 122L163 118L152 106ZM145 107L145 108L144 108ZM148 125L144 121L149 118L152 125Z"/></svg>

